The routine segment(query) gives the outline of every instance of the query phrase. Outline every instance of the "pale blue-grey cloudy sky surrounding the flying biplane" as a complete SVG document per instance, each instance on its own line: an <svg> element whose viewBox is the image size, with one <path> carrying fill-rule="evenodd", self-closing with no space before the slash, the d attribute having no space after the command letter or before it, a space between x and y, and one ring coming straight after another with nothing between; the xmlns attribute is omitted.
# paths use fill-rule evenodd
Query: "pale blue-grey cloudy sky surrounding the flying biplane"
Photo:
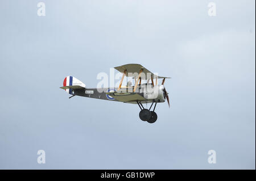
<svg viewBox="0 0 256 181"><path fill-rule="evenodd" d="M255 169L255 1L38 2L0 1L0 169ZM172 77L155 124L59 89L129 63Z"/></svg>

